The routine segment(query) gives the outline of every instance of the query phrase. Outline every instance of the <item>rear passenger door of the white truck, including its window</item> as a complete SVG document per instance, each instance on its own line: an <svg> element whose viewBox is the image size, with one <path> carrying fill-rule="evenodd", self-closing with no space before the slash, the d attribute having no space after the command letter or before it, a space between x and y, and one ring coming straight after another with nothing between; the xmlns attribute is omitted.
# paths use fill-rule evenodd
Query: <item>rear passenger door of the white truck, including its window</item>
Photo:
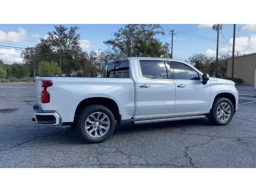
<svg viewBox="0 0 256 192"><path fill-rule="evenodd" d="M175 84L170 66L164 60L138 60L137 107L141 116L172 114Z"/></svg>

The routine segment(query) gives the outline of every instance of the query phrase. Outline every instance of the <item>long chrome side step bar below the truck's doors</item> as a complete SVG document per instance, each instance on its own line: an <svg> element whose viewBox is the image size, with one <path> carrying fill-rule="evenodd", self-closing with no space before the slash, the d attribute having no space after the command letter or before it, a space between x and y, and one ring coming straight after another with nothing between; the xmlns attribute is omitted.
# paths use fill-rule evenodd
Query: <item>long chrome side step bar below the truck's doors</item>
<svg viewBox="0 0 256 192"><path fill-rule="evenodd" d="M186 120L186 119L199 119L206 118L206 115L194 115L194 116L182 116L182 117L168 117L168 118L154 118L154 119L138 119L131 120L133 124L142 124L142 123L154 123L154 122L164 122L164 121L177 121L177 120Z"/></svg>

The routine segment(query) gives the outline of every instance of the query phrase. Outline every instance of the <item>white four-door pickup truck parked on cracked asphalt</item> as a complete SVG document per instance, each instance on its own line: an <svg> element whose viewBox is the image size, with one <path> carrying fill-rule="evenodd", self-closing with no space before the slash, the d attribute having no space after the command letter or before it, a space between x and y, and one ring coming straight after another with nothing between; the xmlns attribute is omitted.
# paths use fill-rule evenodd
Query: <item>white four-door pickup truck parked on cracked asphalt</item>
<svg viewBox="0 0 256 192"><path fill-rule="evenodd" d="M186 62L130 57L108 63L106 78L36 77L38 124L75 126L103 142L115 121L133 124L206 118L228 124L238 107L235 83L209 78Z"/></svg>

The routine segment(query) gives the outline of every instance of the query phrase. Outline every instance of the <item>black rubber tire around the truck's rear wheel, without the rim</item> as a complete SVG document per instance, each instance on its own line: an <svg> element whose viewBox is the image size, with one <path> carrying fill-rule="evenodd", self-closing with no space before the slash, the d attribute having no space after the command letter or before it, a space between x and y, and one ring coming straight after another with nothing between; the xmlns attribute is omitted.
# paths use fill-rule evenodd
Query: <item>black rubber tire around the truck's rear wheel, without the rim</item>
<svg viewBox="0 0 256 192"><path fill-rule="evenodd" d="M108 116L109 122L110 122L110 126L109 126L106 134L104 134L103 136L98 137L98 138L94 138L94 137L90 136L89 134L87 134L86 129L85 129L86 119L90 116L90 114L93 114L94 112L103 112L104 114L106 114ZM90 105L90 106L84 108L78 115L78 118L76 121L76 131L77 131L78 135L80 136L80 138L82 138L82 140L84 140L85 142L89 142L89 143L104 142L113 133L114 129L115 129L114 115L108 108L106 108L105 106L102 106L102 105Z"/></svg>

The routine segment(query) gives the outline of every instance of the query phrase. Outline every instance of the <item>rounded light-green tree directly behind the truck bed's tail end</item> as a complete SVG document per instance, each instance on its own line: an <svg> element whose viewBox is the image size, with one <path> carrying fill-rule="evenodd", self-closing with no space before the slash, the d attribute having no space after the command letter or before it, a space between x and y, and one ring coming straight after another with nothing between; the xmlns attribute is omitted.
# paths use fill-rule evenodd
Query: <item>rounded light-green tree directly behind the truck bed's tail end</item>
<svg viewBox="0 0 256 192"><path fill-rule="evenodd" d="M60 67L57 62L41 61L38 64L37 74L43 75L58 75L60 74Z"/></svg>

